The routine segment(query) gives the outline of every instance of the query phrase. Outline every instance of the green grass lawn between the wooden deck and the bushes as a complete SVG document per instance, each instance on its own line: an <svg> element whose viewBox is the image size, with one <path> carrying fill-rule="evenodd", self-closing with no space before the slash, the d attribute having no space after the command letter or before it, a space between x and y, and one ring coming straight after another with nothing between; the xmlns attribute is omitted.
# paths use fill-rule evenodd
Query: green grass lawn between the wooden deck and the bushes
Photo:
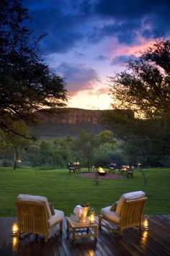
<svg viewBox="0 0 170 256"><path fill-rule="evenodd" d="M81 168L81 172L86 169ZM96 213L112 205L125 192L143 190L148 197L145 213L170 214L170 168L144 170L149 176L146 186L138 170L133 179L99 180L86 179L79 174L68 174L68 170L35 170L0 168L0 216L16 216L14 202L19 193L42 195L53 202L55 208L68 216L73 208L89 202Z"/></svg>

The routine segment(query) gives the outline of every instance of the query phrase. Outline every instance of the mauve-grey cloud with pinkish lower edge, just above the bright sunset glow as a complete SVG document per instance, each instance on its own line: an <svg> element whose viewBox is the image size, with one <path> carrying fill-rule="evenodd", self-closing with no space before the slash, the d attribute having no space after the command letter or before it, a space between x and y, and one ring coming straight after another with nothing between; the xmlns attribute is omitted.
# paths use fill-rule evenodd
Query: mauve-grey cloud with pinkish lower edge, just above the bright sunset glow
<svg viewBox="0 0 170 256"><path fill-rule="evenodd" d="M85 67L84 64L68 64L63 62L58 72L66 77L68 93L77 93L80 90L90 90L99 82L99 75L95 69Z"/></svg>

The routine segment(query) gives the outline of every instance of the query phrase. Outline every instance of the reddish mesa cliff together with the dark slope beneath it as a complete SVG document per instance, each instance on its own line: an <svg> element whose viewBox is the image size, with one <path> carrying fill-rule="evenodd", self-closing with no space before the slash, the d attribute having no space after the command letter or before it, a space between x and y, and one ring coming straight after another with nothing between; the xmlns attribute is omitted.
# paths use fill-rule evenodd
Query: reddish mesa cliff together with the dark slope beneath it
<svg viewBox="0 0 170 256"><path fill-rule="evenodd" d="M76 137L82 129L98 134L107 126L102 123L104 113L115 110L86 110L81 108L61 108L57 110L38 111L37 118L40 124L32 127L32 133L39 138L53 139L55 137ZM122 111L121 111L122 112ZM124 113L125 112L125 113ZM124 111L124 114L133 116L133 112Z"/></svg>

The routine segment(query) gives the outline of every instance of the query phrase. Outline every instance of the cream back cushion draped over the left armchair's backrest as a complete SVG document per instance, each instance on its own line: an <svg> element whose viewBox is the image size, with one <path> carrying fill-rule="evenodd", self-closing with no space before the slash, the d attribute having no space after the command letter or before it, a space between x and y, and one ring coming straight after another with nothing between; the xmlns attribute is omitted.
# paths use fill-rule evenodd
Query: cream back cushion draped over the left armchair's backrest
<svg viewBox="0 0 170 256"><path fill-rule="evenodd" d="M34 202L34 203L42 203L43 205L45 205L45 208L47 209L47 213L48 213L48 218L51 217L51 211L50 211L50 207L48 205L48 200L46 197L41 197L39 195L22 195L19 194L17 197L17 201L19 202Z"/></svg>

